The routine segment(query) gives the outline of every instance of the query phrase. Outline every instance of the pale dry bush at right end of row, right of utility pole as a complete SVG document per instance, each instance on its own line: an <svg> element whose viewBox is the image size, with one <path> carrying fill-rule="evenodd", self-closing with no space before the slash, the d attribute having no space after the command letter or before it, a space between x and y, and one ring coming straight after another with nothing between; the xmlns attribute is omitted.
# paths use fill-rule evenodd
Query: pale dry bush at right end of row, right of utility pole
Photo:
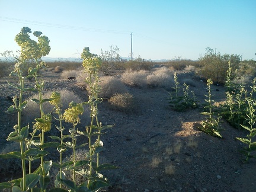
<svg viewBox="0 0 256 192"><path fill-rule="evenodd" d="M149 87L171 88L174 85L173 73L168 68L162 67L156 69L151 75L147 76Z"/></svg>

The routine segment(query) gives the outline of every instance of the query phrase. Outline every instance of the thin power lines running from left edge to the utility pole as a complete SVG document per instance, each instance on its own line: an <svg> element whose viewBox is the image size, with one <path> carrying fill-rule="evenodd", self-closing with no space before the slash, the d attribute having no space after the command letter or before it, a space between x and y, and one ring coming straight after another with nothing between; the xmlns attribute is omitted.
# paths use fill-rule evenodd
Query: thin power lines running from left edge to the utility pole
<svg viewBox="0 0 256 192"><path fill-rule="evenodd" d="M92 32L97 32L97 33L115 33L115 34L129 33L128 31L104 30L104 29L100 29L100 28L77 27L77 26L72 26L72 25L44 23L44 22L40 22L40 21L21 20L21 19L17 19L17 18L2 17L2 16L0 16L0 20L12 22L12 23L33 24L33 25L41 25L41 26L45 26L45 27L65 28L65 29L80 30L80 31L92 31Z"/></svg>

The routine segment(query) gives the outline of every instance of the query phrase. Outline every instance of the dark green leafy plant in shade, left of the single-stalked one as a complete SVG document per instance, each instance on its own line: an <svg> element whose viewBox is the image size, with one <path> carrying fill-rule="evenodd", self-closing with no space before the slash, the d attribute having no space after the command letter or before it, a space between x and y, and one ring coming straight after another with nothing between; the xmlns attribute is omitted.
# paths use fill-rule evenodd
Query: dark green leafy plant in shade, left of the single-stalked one
<svg viewBox="0 0 256 192"><path fill-rule="evenodd" d="M189 90L189 86L187 84L184 83L183 85L183 95L179 94L181 87L179 86L180 82L178 82L176 73L174 73L174 82L174 92L169 93L169 106L171 106L175 111L184 111L198 107L194 92Z"/></svg>

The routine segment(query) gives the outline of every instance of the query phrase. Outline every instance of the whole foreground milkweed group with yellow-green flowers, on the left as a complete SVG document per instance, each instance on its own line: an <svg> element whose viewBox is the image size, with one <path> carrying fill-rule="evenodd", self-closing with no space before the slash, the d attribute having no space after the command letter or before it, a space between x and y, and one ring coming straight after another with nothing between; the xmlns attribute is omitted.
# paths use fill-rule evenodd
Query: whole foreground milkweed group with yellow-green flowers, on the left
<svg viewBox="0 0 256 192"><path fill-rule="evenodd" d="M13 98L13 104L5 111L6 113L16 113L18 116L17 124L14 124L13 131L9 133L7 141L20 143L20 151L12 151L0 154L0 158L17 158L21 160L22 177L8 182L0 183L0 189L9 188L12 191L97 191L109 185L108 180L100 172L106 169L117 167L110 164L100 164L100 152L103 151L101 135L105 129L113 126L105 125L98 120L98 104L101 98L98 97L100 87L98 85L98 69L101 60L97 55L89 52L89 47L85 47L82 52L84 71L88 73L86 82L91 88L91 94L87 102L69 103L69 108L62 113L59 92L53 91L50 98L43 98L44 81L40 78L39 70L46 68L47 65L41 60L50 52L50 40L42 36L40 31L34 31L37 41L30 39L31 29L23 27L15 37L15 41L20 46L20 56L15 57L17 63L10 76L18 78L18 85L8 84L20 92L19 97ZM25 79L35 79L34 87L26 87ZM21 119L27 101L23 96L25 92L34 91L39 93L39 99L31 99L40 108L40 116L37 117L33 125L22 126ZM44 113L43 103L50 102L54 106L52 112ZM84 105L89 105L91 109L91 123L85 126L84 130L76 127L80 123L80 117L84 114ZM45 133L52 129L52 119L59 122L55 128L59 130L59 135L49 136L53 142L46 142ZM65 127L63 121L72 124L69 127L69 135L64 135ZM87 137L88 143L78 145L77 141L82 136ZM85 139L81 139L85 140ZM81 141L80 140L80 141ZM79 142L81 143L81 142ZM76 149L88 146L88 152L84 160L76 161ZM47 148L52 148L47 150ZM59 152L59 161L45 161L51 157L51 153ZM72 161L63 161L63 153L72 151ZM34 170L33 162L39 159L40 165ZM37 165L37 164L36 164ZM50 188L51 178L50 169L59 168L55 176L54 187ZM66 171L72 171L72 179L65 178ZM82 175L84 183L78 183L76 176ZM52 185L51 185L52 186ZM68 188L68 190L67 190Z"/></svg>

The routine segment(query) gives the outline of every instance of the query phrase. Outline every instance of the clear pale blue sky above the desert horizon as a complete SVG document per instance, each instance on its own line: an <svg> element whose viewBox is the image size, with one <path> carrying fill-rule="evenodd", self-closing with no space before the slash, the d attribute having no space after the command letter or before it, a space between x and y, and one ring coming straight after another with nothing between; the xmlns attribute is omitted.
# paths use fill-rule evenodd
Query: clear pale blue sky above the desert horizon
<svg viewBox="0 0 256 192"><path fill-rule="evenodd" d="M255 0L0 0L0 53L20 49L22 27L49 37L50 57L111 45L128 57L133 33L134 58L196 60L210 47L256 59Z"/></svg>

